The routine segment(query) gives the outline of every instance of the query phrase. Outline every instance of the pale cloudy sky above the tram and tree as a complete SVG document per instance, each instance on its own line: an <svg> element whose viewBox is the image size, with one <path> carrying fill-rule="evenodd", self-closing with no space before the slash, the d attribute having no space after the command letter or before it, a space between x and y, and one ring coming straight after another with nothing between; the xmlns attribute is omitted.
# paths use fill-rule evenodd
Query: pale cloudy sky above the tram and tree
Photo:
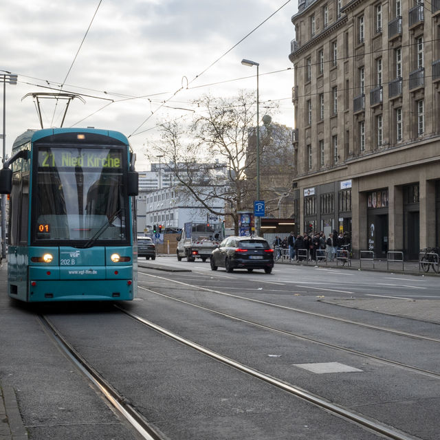
<svg viewBox="0 0 440 440"><path fill-rule="evenodd" d="M191 101L203 94L234 96L256 88L256 69L241 65L242 58L260 63L261 107L278 104L274 122L292 126L288 55L297 5L296 0L1 0L0 69L19 75L17 85L6 85L7 154L19 134L39 128L33 98L23 96L63 85L65 92L87 95L85 103L72 102L64 126L122 131L137 153L137 169L147 169L143 153L158 135L157 124L184 122L194 108ZM45 128L60 126L64 106L41 102Z"/></svg>

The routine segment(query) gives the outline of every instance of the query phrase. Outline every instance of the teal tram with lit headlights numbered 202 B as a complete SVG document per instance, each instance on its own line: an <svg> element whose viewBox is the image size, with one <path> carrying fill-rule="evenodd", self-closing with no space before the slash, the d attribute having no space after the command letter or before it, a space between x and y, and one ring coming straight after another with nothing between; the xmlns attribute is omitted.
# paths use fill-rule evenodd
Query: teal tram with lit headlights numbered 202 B
<svg viewBox="0 0 440 440"><path fill-rule="evenodd" d="M133 300L134 160L116 131L28 130L17 138L0 170L0 192L10 195L10 297Z"/></svg>

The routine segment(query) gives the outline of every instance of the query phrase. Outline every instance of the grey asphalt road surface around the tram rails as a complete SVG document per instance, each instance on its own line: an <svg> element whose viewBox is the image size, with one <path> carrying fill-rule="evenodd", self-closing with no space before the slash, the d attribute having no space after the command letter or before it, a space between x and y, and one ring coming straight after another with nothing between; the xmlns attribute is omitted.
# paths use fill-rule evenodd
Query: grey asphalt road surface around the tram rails
<svg viewBox="0 0 440 440"><path fill-rule="evenodd" d="M383 438L111 305L36 308L4 295L0 305L0 380L14 388L30 439L136 438L56 349L37 313L164 438ZM289 265L228 274L158 257L140 262L138 297L122 307L408 439L434 440L439 305L437 277Z"/></svg>

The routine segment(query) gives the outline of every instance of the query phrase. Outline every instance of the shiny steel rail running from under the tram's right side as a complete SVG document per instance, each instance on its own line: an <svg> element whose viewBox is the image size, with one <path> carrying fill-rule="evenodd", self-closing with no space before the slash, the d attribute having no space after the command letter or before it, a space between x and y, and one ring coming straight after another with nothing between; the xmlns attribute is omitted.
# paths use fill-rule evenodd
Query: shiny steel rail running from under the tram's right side
<svg viewBox="0 0 440 440"><path fill-rule="evenodd" d="M151 329L154 329L155 331L158 331L159 333L162 333L165 336L168 336L169 338L172 338L173 340L176 340L180 342L181 344L186 345L187 347L191 347L192 349L195 349L199 351L200 353L203 353L205 355L208 355L210 358L217 360L219 362L222 362L225 365L232 366L234 369L237 369L243 373L247 373L248 375L251 375L253 377L256 377L260 380L263 380L264 382L267 382L268 384L272 384L273 386L276 386L277 388L281 388L283 391L287 391L287 393L290 393L292 395L295 395L296 397L300 397L301 399L304 399L306 401L309 401L311 404L314 404L318 406L319 408L324 408L325 410L332 412L335 415L338 415L346 420L349 420L351 422L357 423L362 428L367 428L369 430L372 430L378 434L382 434L389 439L394 440L416 440L417 437L412 437L409 434L406 434L405 432L401 432L400 430L393 429L390 426L385 425L384 423L380 423L375 420L367 419L366 417L363 417L362 415L358 415L353 411L348 410L347 408L344 408L342 406L338 406L336 404L332 404L331 402L322 399L314 394L311 394L301 388L298 388L297 386L292 386L290 384L287 384L285 382L282 382L281 380L277 380L274 377L271 377L269 375L265 375L261 373L260 371L256 371L249 366L246 366L245 364L241 364L241 362L236 362L230 358L227 358L223 355L220 355L219 353L216 353L210 349L206 349L205 347L202 347L199 344L196 344L195 342L192 342L186 338L182 338L181 336L177 335L176 333L173 333L172 331L169 331L167 329L164 329L164 327L161 327L154 322L151 322L149 320L146 320L145 318L142 318L142 316L139 316L137 314L133 314L133 312L125 310L123 307L120 307L120 305L115 305L117 309L122 311L124 314L130 316L133 318L133 320L137 322L141 322L143 325L146 325L150 327ZM417 439L419 440L419 439Z"/></svg>

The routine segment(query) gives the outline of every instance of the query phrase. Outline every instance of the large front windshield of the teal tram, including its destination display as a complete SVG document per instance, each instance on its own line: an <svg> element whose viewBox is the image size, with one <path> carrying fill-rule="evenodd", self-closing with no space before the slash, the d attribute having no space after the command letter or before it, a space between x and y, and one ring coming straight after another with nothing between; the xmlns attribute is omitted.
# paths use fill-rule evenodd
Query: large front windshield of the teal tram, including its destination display
<svg viewBox="0 0 440 440"><path fill-rule="evenodd" d="M40 146L32 192L34 241L80 247L126 241L123 153L115 147Z"/></svg>

